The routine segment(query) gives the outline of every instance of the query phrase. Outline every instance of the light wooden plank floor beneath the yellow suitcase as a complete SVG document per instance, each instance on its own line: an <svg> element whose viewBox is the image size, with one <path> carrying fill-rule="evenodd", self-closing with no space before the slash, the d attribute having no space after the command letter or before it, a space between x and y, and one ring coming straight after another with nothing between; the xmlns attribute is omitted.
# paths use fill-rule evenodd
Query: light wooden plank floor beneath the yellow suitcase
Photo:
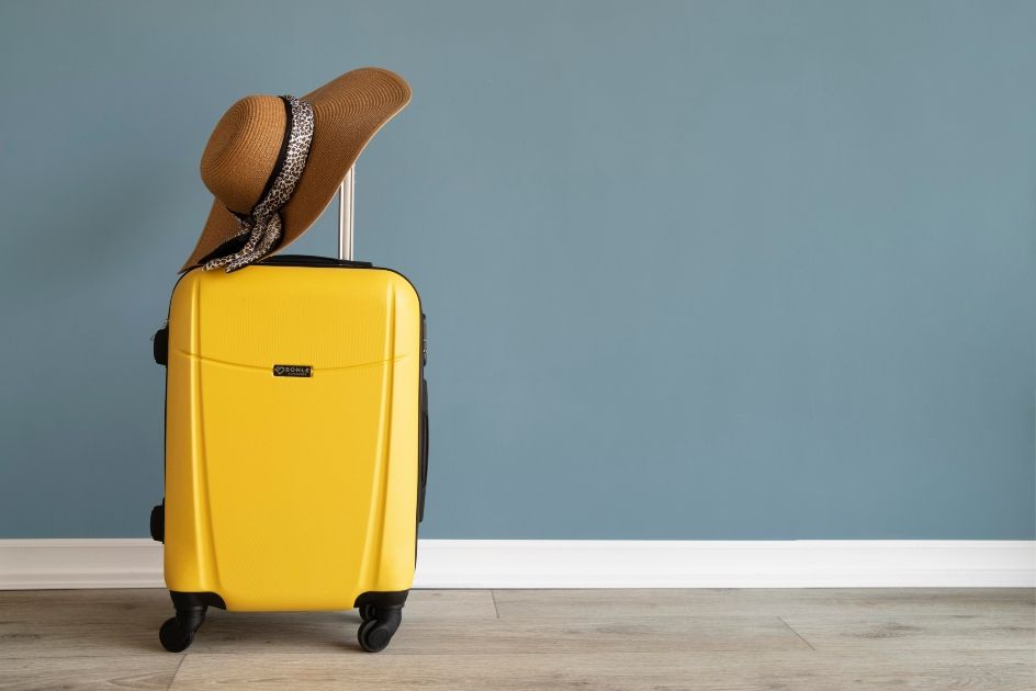
<svg viewBox="0 0 1036 691"><path fill-rule="evenodd" d="M173 655L170 612L0 592L0 689L1036 689L1033 590L424 590L376 655L356 612L217 610Z"/></svg>

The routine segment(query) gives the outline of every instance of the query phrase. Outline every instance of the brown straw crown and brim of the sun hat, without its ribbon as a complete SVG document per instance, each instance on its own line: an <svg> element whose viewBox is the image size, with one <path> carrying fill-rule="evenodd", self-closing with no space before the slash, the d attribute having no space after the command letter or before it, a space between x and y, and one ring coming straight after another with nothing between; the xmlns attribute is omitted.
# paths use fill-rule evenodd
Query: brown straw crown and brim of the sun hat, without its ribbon
<svg viewBox="0 0 1036 691"><path fill-rule="evenodd" d="M274 208L280 218L278 243L283 249L302 235L335 196L338 185L375 133L410 100L410 88L395 72L364 67L347 72L300 99L250 95L230 106L205 146L201 173L215 201L187 271L216 257L238 251L247 239L247 218L260 202L269 204L271 185L283 183L284 158L295 145L300 102L312 127L304 132L308 151L301 151L301 177L290 182L288 201ZM299 111L295 111L299 113ZM291 158L289 158L291 161Z"/></svg>

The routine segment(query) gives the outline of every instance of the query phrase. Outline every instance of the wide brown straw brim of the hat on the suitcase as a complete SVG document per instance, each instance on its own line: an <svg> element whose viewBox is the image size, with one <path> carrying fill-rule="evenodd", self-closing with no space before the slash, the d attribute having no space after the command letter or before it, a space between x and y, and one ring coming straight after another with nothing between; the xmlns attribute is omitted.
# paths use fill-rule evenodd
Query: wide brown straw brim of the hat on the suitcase
<svg viewBox="0 0 1036 691"><path fill-rule="evenodd" d="M313 139L295 191L281 208L282 239L291 245L319 218L346 173L378 131L410 101L406 81L387 69L352 70L302 97L313 106ZM188 271L240 233L237 218L217 200L190 259Z"/></svg>

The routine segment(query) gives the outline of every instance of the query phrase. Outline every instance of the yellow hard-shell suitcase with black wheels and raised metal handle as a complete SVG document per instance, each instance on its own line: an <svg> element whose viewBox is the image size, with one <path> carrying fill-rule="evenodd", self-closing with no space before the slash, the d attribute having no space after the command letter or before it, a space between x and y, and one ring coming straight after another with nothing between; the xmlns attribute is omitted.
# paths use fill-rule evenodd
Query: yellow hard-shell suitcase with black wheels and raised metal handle
<svg viewBox="0 0 1036 691"><path fill-rule="evenodd" d="M151 516L167 650L209 607L359 608L368 652L402 621L427 477L425 325L403 275L352 261L352 177L339 259L193 269L173 288L155 339L166 495Z"/></svg>

